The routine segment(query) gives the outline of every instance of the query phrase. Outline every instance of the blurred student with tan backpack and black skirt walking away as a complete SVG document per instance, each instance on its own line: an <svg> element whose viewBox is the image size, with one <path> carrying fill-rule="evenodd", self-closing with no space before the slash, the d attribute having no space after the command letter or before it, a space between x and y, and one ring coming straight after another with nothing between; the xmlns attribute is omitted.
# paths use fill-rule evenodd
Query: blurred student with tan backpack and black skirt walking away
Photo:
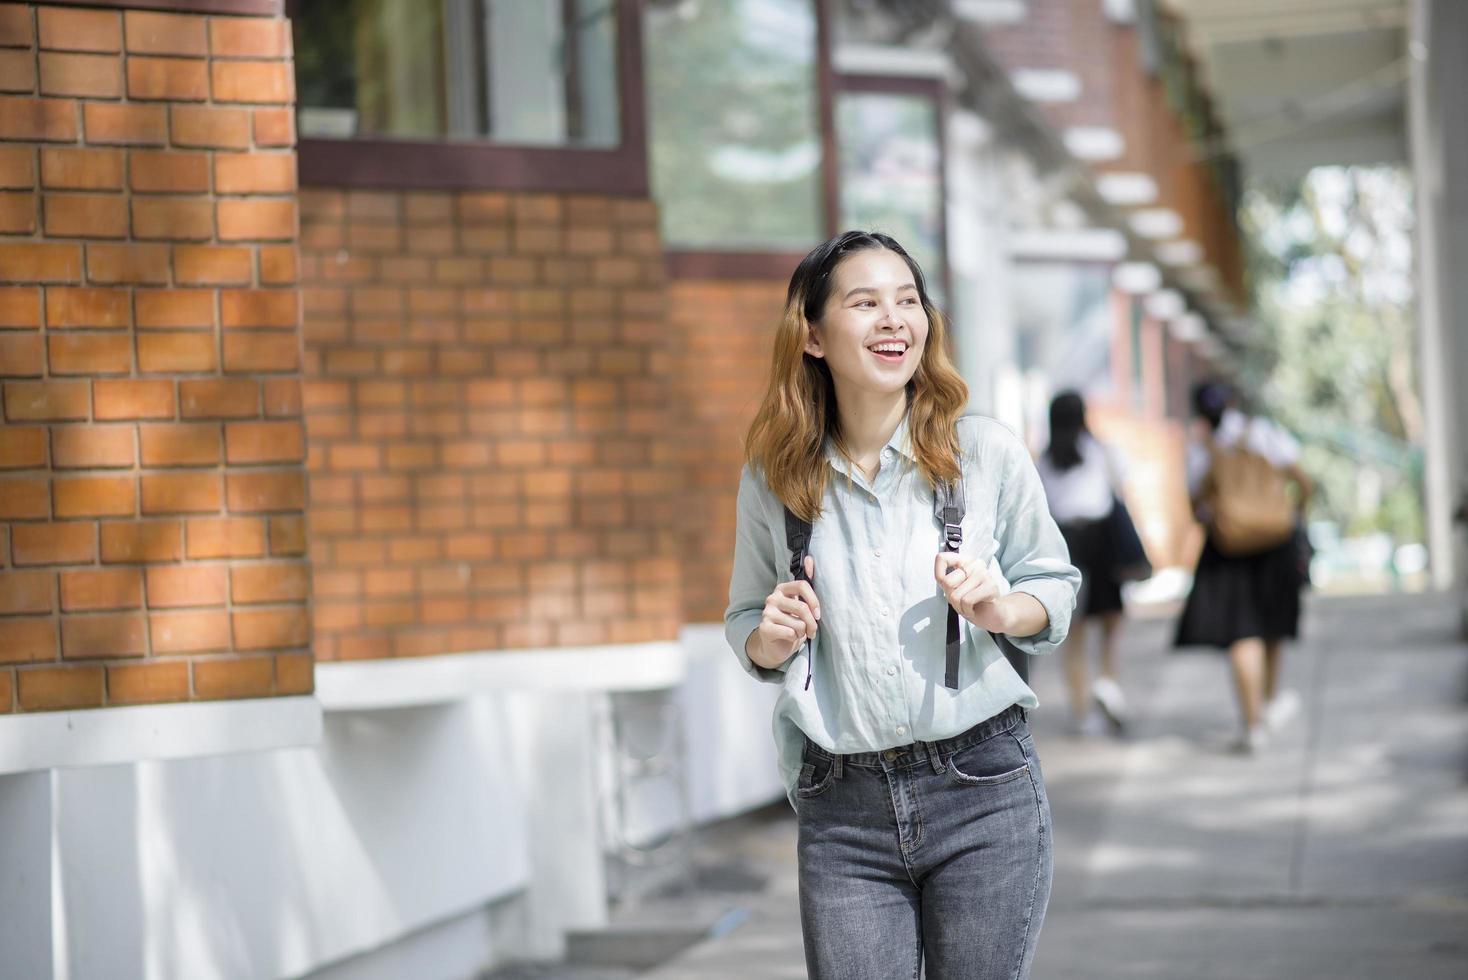
<svg viewBox="0 0 1468 980"><path fill-rule="evenodd" d="M1295 437L1239 411L1227 384L1198 384L1193 414L1188 493L1207 540L1176 646L1229 651L1243 723L1236 748L1258 753L1299 706L1279 678L1283 643L1299 634L1305 577L1298 535L1311 483ZM1287 483L1296 487L1293 502Z"/></svg>

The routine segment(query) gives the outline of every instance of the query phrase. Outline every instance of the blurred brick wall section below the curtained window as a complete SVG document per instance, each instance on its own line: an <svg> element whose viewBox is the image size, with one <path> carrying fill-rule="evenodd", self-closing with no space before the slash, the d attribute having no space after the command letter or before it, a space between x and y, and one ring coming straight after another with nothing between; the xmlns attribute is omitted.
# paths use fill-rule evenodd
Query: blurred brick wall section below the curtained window
<svg viewBox="0 0 1468 980"><path fill-rule="evenodd" d="M317 659L677 637L649 201L307 188L301 274Z"/></svg>

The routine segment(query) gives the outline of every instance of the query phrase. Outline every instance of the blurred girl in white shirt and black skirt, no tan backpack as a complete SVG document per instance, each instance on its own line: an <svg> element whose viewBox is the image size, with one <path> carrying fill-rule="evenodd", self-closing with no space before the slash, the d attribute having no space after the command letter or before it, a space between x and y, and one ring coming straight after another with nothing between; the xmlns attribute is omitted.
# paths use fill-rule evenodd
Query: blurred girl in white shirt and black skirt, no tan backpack
<svg viewBox="0 0 1468 980"><path fill-rule="evenodd" d="M1076 392L1061 392L1050 403L1050 445L1035 465L1050 513L1070 546L1070 563L1082 575L1076 616L1061 654L1070 731L1097 735L1108 723L1120 734L1126 725L1126 698L1117 682L1116 647L1123 615L1117 569L1123 557L1117 555L1111 521L1130 524L1130 518L1113 513L1123 496L1120 465L1116 453L1091 434L1085 401ZM1101 657L1092 682L1086 638L1097 622Z"/></svg>

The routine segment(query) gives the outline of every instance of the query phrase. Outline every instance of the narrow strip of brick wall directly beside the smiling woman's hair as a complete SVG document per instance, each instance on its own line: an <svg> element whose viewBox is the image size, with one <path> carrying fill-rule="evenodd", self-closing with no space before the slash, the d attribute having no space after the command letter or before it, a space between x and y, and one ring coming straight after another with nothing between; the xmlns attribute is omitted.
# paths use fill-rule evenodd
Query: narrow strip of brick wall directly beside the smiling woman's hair
<svg viewBox="0 0 1468 980"><path fill-rule="evenodd" d="M668 290L678 340L672 393L683 493L686 622L722 622L734 559L734 505L749 428L769 377L784 282L680 280Z"/></svg>

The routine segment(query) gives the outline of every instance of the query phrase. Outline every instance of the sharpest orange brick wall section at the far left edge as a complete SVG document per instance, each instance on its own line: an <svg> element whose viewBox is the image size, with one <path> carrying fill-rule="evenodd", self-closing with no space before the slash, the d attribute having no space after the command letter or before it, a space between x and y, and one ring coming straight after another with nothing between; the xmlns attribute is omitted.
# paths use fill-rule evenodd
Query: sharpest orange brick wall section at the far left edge
<svg viewBox="0 0 1468 980"><path fill-rule="evenodd" d="M311 691L289 54L0 3L0 712Z"/></svg>

